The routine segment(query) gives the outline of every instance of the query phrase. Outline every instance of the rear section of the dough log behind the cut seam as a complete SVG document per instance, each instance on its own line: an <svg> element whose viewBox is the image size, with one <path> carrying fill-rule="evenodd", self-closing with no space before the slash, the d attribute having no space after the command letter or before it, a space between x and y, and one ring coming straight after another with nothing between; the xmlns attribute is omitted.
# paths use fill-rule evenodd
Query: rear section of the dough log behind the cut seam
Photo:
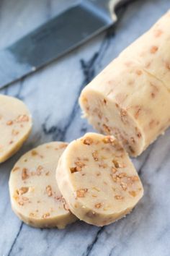
<svg viewBox="0 0 170 256"><path fill-rule="evenodd" d="M138 61L146 72L152 74L170 92L170 11L164 14L148 32L122 51L125 56Z"/></svg>

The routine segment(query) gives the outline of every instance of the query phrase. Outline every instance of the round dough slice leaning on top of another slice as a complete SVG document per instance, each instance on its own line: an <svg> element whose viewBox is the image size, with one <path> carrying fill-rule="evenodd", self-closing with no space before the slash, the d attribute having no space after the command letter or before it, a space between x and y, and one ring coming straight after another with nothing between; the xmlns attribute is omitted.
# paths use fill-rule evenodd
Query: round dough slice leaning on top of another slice
<svg viewBox="0 0 170 256"><path fill-rule="evenodd" d="M128 154L115 137L87 133L68 145L56 179L71 212L104 226L130 213L143 186Z"/></svg>

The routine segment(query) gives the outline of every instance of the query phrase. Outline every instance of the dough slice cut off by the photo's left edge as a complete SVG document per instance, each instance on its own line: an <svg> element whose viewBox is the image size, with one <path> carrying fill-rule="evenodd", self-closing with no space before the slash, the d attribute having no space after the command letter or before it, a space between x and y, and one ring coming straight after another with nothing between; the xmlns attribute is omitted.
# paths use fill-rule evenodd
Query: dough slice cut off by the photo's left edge
<svg viewBox="0 0 170 256"><path fill-rule="evenodd" d="M22 147L30 135L32 117L22 101L0 95L0 163Z"/></svg>

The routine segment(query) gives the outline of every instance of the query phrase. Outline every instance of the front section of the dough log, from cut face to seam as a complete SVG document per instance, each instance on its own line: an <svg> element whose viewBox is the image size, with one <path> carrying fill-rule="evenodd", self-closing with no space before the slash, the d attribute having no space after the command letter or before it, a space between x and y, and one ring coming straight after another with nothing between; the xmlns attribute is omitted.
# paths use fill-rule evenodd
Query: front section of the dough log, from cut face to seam
<svg viewBox="0 0 170 256"><path fill-rule="evenodd" d="M79 98L89 123L115 135L131 156L140 155L170 125L170 94L131 59L117 58Z"/></svg>

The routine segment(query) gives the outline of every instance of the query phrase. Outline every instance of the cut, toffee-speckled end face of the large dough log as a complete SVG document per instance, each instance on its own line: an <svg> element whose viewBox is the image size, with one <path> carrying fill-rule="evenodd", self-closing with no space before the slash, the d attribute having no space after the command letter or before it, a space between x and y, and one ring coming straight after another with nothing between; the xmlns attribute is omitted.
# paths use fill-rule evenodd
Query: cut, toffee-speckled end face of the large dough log
<svg viewBox="0 0 170 256"><path fill-rule="evenodd" d="M93 113L89 112L90 102L97 104L97 107L91 108ZM130 156L136 157L143 152L146 142L143 129L138 127L138 122L132 114L118 104L112 96L104 97L101 91L86 86L81 92L79 105L83 111L82 117L86 118L89 124L100 133L117 137Z"/></svg>

